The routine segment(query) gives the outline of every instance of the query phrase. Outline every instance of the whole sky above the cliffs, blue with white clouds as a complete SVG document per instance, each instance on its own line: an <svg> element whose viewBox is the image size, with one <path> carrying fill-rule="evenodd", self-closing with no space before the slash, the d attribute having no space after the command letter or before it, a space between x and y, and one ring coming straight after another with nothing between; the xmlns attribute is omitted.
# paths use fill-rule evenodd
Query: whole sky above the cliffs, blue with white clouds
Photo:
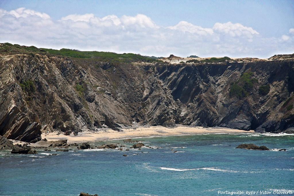
<svg viewBox="0 0 294 196"><path fill-rule="evenodd" d="M294 53L294 1L1 0L0 42L148 56Z"/></svg>

